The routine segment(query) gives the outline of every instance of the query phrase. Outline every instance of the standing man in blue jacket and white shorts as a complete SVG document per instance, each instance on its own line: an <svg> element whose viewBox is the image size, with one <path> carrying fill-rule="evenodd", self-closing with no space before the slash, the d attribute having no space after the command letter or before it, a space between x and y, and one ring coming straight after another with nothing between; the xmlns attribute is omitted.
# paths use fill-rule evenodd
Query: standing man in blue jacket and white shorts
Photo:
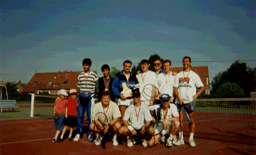
<svg viewBox="0 0 256 155"><path fill-rule="evenodd" d="M112 91L113 94L118 97L118 106L122 115L120 119L121 124L123 116L125 114L125 109L133 102L133 99L131 98L132 96L125 96L121 94L123 90L122 84L126 85L128 88L133 89L135 84L138 83L136 76L129 72L129 70L131 69L131 65L131 61L125 60L123 62L123 70L121 72L118 72L114 76L114 80L112 83Z"/></svg>

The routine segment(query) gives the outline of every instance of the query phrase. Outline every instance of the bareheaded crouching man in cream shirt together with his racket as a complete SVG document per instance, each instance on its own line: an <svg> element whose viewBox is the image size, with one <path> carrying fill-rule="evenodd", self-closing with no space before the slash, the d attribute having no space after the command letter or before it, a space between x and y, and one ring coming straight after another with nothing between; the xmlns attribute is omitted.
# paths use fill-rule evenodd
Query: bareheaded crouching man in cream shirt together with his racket
<svg viewBox="0 0 256 155"><path fill-rule="evenodd" d="M110 100L110 96L111 94L108 90L101 92L101 102L96 103L92 109L90 130L96 134L96 139L94 140L96 145L101 145L102 142L105 143L102 136L109 134L109 130L112 130L114 132L112 144L118 146L118 129L121 127L118 119L121 117L121 113L118 105Z"/></svg>

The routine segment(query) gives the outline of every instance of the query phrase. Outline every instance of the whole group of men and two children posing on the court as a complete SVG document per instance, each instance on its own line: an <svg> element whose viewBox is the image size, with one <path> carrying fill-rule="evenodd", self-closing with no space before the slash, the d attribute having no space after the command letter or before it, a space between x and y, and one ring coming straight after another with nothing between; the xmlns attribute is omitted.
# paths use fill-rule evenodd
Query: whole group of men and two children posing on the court
<svg viewBox="0 0 256 155"><path fill-rule="evenodd" d="M78 76L77 91L70 90L68 99L64 97L66 90L58 91L60 96L55 101L54 112L57 132L53 143L63 140L68 126L71 127L69 139L72 140L71 133L74 124L71 122L75 118L77 119L75 120L77 130L73 141L79 141L83 137L83 119L86 110L88 121L86 134L88 141L94 141L96 145L100 145L103 139L99 134L100 130L96 127L96 120L94 120L98 112L103 112L108 118L108 123L103 128L105 134L110 135L114 146L126 143L128 147L132 147L133 144L139 142L143 147L153 147L159 142L164 143L168 148L172 148L173 145L184 145L183 113L186 109L192 121L192 124L189 124L188 143L190 147L195 147L195 100L205 87L198 74L191 70L191 64L190 57L184 57L183 70L177 74L171 71L172 62L168 59L163 62L160 59L155 59L154 71L148 69L149 61L143 59L140 62L141 72L134 75L130 72L132 62L126 60L123 62L123 70L118 72L114 78L109 76L109 65L103 65L101 67L103 77L98 79L97 74L90 70L92 61L88 58L84 59L84 72ZM99 84L99 102L95 103L97 82ZM146 98L143 88L147 84L155 85L162 96ZM199 90L197 91L196 88ZM78 97L74 95L77 92L79 92ZM118 97L117 104L115 97ZM76 104L75 101L77 101ZM72 111L74 109L76 115ZM160 134L151 136L148 134L147 128L155 121L162 121L164 130ZM62 134L58 139L61 131ZM118 140L118 136L121 140Z"/></svg>

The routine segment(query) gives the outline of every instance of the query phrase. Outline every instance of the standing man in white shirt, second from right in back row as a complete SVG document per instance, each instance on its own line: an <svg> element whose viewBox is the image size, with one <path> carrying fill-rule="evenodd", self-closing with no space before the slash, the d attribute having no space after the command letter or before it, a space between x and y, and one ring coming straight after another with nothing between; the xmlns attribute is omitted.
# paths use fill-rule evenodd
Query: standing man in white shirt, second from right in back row
<svg viewBox="0 0 256 155"><path fill-rule="evenodd" d="M170 102L173 103L173 83L175 76L172 75L172 62L168 59L164 60L163 62L164 72L160 73L157 76L157 81L155 83L155 87L159 89L160 94L168 94L170 96ZM155 98L159 101L160 98Z"/></svg>

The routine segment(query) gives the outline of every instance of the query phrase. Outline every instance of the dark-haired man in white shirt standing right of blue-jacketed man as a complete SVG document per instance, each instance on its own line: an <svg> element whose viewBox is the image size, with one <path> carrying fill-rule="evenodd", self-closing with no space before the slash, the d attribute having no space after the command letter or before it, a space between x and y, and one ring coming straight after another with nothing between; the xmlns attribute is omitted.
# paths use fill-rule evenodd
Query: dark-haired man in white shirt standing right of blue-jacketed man
<svg viewBox="0 0 256 155"><path fill-rule="evenodd" d="M144 105L147 105L148 107L153 105L153 99L151 100L149 97L147 97L144 94L143 88L147 84L154 85L155 80L157 79L157 75L151 70L148 70L149 61L146 59L143 59L142 61L140 61L140 67L142 68L142 72L136 75L136 78L138 79L139 84L136 85L135 88L140 88L140 94L142 94L140 102Z"/></svg>

